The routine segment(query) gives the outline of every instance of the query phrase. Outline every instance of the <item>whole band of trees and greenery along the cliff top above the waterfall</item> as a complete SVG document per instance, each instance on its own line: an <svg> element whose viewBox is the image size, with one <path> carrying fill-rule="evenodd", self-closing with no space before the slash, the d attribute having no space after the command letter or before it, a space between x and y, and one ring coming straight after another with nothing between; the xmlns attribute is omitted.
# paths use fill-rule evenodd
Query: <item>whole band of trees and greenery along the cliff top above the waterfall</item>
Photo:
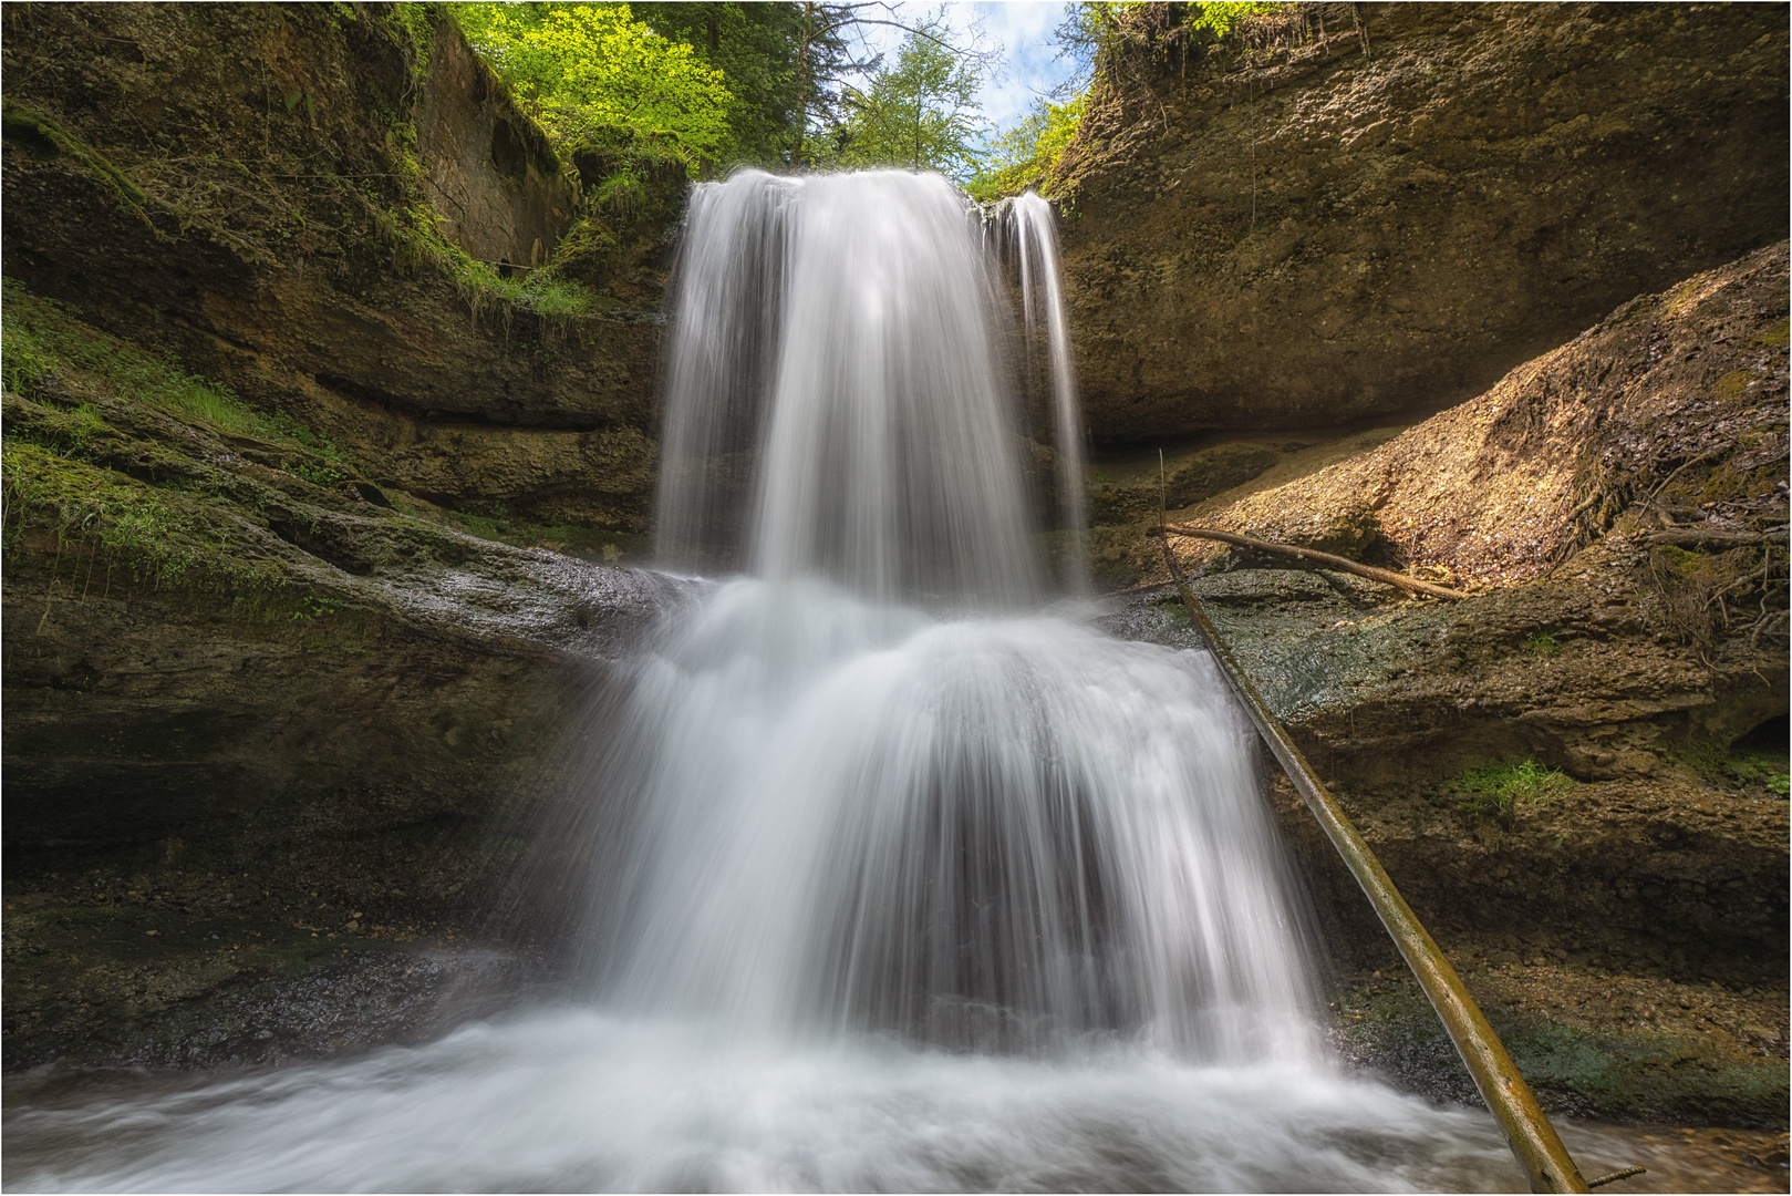
<svg viewBox="0 0 1792 1196"><path fill-rule="evenodd" d="M611 163L599 201L643 199L661 160L690 178L767 169L941 170L982 201L1068 194L1063 170L1091 97L1133 82L1142 59L1305 30L1305 7L1267 0L1066 4L1055 34L1072 79L1009 129L977 90L1000 52L957 32L944 9L907 23L876 4L450 4L471 45L550 133L561 156ZM1292 16L1290 16L1292 14ZM896 27L891 56L866 34ZM1271 32L1265 32L1271 30ZM855 50L858 47L858 50ZM887 59L887 61L885 61Z"/></svg>

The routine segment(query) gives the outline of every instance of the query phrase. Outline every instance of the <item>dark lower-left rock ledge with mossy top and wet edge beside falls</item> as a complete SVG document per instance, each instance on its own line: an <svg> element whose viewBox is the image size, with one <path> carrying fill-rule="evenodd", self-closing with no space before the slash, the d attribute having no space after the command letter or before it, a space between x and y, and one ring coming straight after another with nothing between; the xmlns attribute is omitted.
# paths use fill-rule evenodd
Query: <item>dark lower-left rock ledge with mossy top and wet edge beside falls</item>
<svg viewBox="0 0 1792 1196"><path fill-rule="evenodd" d="M5 1065L278 1062L516 999L541 959L487 916L529 814L688 586L403 515L73 369L29 391L5 396Z"/></svg>

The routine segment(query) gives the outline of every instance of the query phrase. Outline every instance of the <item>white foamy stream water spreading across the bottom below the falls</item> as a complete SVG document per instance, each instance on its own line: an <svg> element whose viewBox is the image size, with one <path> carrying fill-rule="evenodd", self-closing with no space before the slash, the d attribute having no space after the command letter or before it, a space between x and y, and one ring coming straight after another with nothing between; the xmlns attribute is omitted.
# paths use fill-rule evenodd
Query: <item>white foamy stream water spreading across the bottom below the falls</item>
<svg viewBox="0 0 1792 1196"><path fill-rule="evenodd" d="M1491 1119L1288 1065L545 1011L7 1117L9 1191L1516 1191Z"/></svg>

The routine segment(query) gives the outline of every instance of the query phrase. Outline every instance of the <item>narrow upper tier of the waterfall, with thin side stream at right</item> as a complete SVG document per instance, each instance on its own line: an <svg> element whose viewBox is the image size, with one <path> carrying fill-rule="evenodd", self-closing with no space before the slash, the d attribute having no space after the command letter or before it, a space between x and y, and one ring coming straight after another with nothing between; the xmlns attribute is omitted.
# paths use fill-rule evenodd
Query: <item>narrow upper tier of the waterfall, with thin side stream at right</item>
<svg viewBox="0 0 1792 1196"><path fill-rule="evenodd" d="M1054 400L1048 484L1073 493L1050 212L1009 219L1025 357L1045 342L1027 377L1045 375ZM659 558L826 577L876 601L1038 601L1005 296L975 210L939 176L747 170L699 186L674 283Z"/></svg>

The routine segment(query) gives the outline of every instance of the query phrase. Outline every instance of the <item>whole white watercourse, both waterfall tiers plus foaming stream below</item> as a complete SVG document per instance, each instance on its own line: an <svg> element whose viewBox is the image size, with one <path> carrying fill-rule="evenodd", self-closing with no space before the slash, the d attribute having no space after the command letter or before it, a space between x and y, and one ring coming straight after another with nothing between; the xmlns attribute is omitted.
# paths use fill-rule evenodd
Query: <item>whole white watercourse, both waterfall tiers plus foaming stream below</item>
<svg viewBox="0 0 1792 1196"><path fill-rule="evenodd" d="M1079 427L1041 201L699 186L658 534L722 579L593 730L573 992L14 1105L7 1187L1512 1187L1491 1119L1328 1060L1208 660L1052 581Z"/></svg>

